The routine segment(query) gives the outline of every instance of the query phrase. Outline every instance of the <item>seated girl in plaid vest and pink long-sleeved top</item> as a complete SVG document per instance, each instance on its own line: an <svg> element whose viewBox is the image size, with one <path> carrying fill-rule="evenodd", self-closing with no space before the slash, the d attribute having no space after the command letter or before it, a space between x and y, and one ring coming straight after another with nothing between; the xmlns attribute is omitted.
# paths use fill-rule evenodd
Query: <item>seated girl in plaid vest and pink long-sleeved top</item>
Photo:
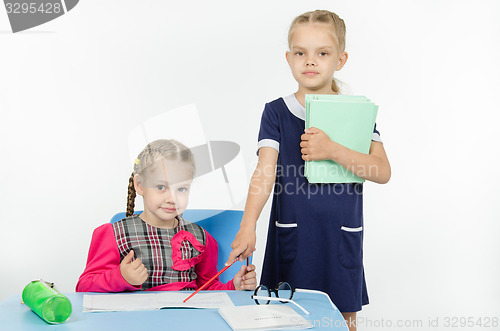
<svg viewBox="0 0 500 331"><path fill-rule="evenodd" d="M191 151L156 140L135 160L127 218L94 230L77 292L196 290L217 273L218 247L202 227L182 218L195 172ZM144 211L134 215L136 192ZM254 289L255 266L242 266L226 284L208 290Z"/></svg>

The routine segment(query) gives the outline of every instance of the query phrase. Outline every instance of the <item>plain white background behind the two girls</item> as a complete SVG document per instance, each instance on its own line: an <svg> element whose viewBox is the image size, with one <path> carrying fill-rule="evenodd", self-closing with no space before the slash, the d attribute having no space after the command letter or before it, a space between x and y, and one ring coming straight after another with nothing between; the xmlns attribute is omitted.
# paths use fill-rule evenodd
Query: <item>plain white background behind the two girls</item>
<svg viewBox="0 0 500 331"><path fill-rule="evenodd" d="M17 34L0 9L0 300L40 277L74 290L92 230L124 209L127 137L148 118L195 103L250 178L264 104L296 89L289 24L318 8L346 21L338 78L380 106L392 165L365 185L359 316L500 317L500 3L482 0L85 0Z"/></svg>

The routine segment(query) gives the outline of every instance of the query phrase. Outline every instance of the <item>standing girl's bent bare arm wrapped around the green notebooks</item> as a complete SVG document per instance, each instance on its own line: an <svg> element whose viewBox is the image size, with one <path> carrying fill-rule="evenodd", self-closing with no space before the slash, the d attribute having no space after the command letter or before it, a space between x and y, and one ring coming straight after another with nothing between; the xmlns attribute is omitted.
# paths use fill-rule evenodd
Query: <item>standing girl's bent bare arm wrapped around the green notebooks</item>
<svg viewBox="0 0 500 331"><path fill-rule="evenodd" d="M391 165L381 142L372 141L369 154L364 154L332 141L318 128L305 132L300 143L303 160L333 160L356 176L379 184L391 178Z"/></svg>

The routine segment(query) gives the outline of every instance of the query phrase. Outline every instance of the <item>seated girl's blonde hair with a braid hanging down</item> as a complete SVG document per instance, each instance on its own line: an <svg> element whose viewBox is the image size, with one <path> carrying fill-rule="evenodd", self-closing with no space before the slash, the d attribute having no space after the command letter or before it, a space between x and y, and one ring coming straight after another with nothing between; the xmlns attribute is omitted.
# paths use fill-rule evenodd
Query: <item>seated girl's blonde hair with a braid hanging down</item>
<svg viewBox="0 0 500 331"><path fill-rule="evenodd" d="M134 163L134 171L128 180L127 210L126 216L134 214L135 206L135 186L134 176L143 174L154 162L160 159L187 162L192 166L193 177L195 173L195 163L193 153L189 148L173 139L160 139L149 143L137 156Z"/></svg>

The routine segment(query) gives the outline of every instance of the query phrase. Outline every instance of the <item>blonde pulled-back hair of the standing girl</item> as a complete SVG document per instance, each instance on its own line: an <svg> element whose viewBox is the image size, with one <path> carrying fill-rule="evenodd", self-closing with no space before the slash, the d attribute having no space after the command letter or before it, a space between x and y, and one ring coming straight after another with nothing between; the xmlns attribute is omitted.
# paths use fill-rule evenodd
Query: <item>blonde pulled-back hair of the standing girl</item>
<svg viewBox="0 0 500 331"><path fill-rule="evenodd" d="M295 27L298 24L304 23L325 23L330 24L333 27L333 35L337 39L337 47L340 53L345 51L345 23L337 14L328 10L315 10L304 14L301 14L292 21L290 29L288 30L288 47L291 47L292 36ZM334 92L339 92L340 88L336 83L335 79L332 80L332 90Z"/></svg>

